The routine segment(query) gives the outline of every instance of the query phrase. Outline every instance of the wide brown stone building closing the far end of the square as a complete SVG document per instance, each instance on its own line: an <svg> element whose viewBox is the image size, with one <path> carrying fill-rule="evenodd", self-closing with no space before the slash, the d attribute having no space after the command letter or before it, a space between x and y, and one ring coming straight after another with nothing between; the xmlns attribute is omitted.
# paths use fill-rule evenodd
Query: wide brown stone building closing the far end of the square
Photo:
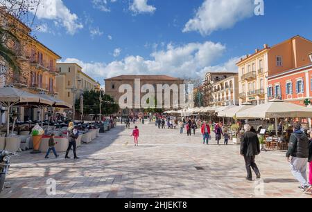
<svg viewBox="0 0 312 212"><path fill-rule="evenodd" d="M135 96L135 81L139 80L139 96ZM121 86L128 85L128 88L131 88L131 93L130 98L132 99L127 99L127 106L123 107L122 104L121 108L124 110L123 113L138 113L141 112L141 99L144 97L144 95L147 94L146 90L140 92L142 90L142 87L144 85L151 85L152 88L155 91L155 98L157 98L157 94L160 93L162 95L162 100L164 100L164 90L159 90L157 89L157 85L168 85L168 86L175 86L176 88L180 88L180 85L182 85L184 81L179 78L175 77L169 77L166 75L121 75L118 77L112 77L110 79L105 79L105 94L110 95L115 102L119 102L119 99L125 95L125 90L121 89ZM173 87L171 87L173 88ZM121 89L121 90L120 90ZM119 92L120 91L120 92ZM130 92L127 90L127 92ZM150 91L149 91L150 92ZM170 95L170 108L180 108L180 93L175 93L175 91L171 90L171 95ZM179 98L177 102L173 101L173 96L177 95ZM132 104L129 100L132 100ZM137 100L137 101L136 101ZM157 105L162 105L162 108L165 108L164 106L164 101L162 102L157 102L156 99L155 104ZM166 108L169 109L169 108Z"/></svg>

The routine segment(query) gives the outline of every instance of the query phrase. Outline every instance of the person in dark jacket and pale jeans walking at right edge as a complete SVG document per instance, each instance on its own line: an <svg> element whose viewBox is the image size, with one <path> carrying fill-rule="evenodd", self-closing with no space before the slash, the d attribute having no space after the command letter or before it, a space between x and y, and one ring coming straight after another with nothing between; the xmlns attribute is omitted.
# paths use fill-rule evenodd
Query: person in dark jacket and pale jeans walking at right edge
<svg viewBox="0 0 312 212"><path fill-rule="evenodd" d="M306 192L311 191L311 185L306 178L306 165L309 161L309 143L309 138L302 131L301 124L295 124L286 158L291 164L291 173L300 182L300 189Z"/></svg>

